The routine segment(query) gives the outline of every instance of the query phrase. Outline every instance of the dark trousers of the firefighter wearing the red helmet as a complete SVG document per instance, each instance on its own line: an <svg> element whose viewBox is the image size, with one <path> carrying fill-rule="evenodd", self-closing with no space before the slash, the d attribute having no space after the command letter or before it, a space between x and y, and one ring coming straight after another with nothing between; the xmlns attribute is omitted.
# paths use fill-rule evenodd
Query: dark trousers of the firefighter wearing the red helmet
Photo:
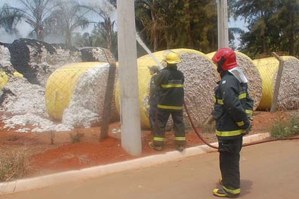
<svg viewBox="0 0 299 199"><path fill-rule="evenodd" d="M242 136L235 139L218 140L223 189L231 196L240 194L240 151L242 142Z"/></svg>

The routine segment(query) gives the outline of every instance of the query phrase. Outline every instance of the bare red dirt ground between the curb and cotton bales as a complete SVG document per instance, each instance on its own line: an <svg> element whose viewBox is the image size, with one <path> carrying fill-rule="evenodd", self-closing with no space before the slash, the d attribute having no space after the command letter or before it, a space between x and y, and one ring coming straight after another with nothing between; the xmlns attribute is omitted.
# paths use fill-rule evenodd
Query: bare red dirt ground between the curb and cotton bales
<svg viewBox="0 0 299 199"><path fill-rule="evenodd" d="M260 112L254 115L254 126L252 133L269 132L272 125L278 120L285 120L291 112L278 111ZM121 162L134 158L164 153L174 149L173 133L166 133L165 147L162 152L149 148L151 140L149 131L142 131L142 150L140 156L131 156L121 147L119 133L112 133L112 129L120 129L120 123L116 122L109 127L109 136L99 141L100 127L88 129L78 128L70 132L55 132L54 145L50 145L50 133L17 133L17 129L2 129L4 124L0 121L0 155L6 152L25 149L28 154L28 174L33 177L53 172L82 169L91 166L104 165L114 162ZM33 126L27 126L33 128ZM71 143L71 137L76 133L84 134L79 143ZM208 142L215 142L214 133L204 133L203 136ZM194 131L186 134L187 147L203 144Z"/></svg>

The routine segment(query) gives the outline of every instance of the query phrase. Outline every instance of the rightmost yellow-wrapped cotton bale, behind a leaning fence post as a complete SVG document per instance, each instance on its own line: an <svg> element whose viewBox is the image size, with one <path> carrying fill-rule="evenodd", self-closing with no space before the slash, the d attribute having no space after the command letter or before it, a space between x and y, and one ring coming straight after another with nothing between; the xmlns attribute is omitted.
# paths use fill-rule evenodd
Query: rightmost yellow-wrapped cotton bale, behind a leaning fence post
<svg viewBox="0 0 299 199"><path fill-rule="evenodd" d="M292 56L282 56L284 70L278 95L278 108L299 108L299 60ZM258 109L271 108L279 61L275 57L254 60L263 79L263 96Z"/></svg>

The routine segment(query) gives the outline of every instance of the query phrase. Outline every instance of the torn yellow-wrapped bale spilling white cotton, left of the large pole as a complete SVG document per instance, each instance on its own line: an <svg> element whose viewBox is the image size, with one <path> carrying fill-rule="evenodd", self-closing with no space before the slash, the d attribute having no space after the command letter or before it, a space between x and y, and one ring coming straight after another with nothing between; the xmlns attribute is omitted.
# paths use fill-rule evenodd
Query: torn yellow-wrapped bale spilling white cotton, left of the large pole
<svg viewBox="0 0 299 199"><path fill-rule="evenodd" d="M109 64L73 63L57 69L46 84L45 103L48 114L71 126L99 124L102 118ZM112 105L112 108L115 105ZM111 120L118 118L111 110Z"/></svg>

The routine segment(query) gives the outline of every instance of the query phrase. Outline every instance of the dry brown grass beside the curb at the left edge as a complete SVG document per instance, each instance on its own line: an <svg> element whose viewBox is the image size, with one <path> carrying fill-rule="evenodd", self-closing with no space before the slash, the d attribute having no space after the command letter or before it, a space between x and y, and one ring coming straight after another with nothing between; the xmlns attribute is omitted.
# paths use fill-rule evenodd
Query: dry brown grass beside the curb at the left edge
<svg viewBox="0 0 299 199"><path fill-rule="evenodd" d="M20 151L8 152L0 156L0 182L20 179L26 176L26 152Z"/></svg>

